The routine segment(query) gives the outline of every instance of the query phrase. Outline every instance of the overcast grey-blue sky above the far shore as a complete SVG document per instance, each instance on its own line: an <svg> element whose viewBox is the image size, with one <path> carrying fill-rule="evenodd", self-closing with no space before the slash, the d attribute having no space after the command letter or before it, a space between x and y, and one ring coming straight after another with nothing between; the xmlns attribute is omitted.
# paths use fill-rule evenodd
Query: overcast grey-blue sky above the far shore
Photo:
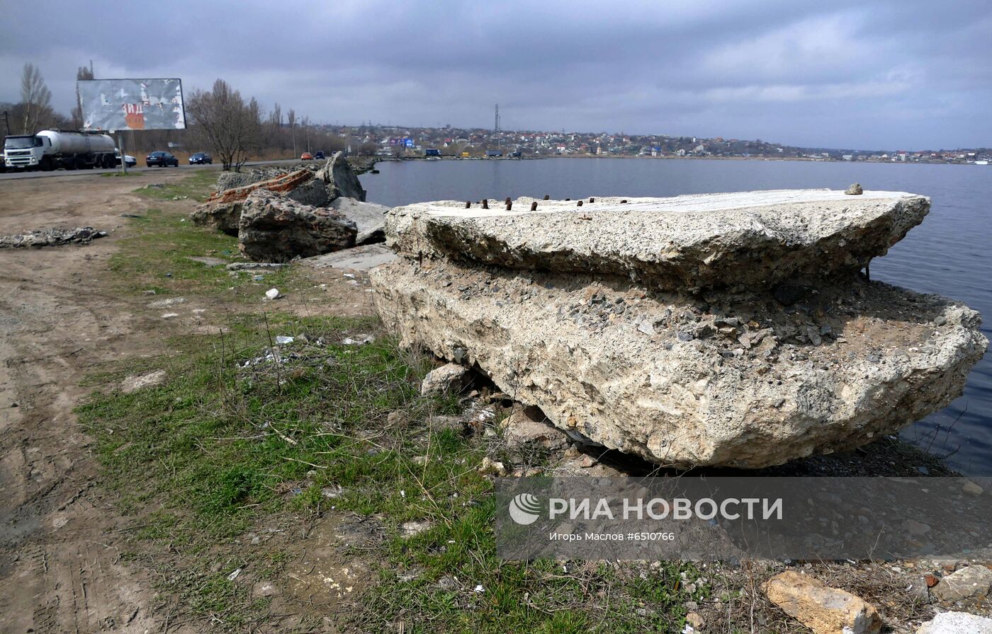
<svg viewBox="0 0 992 634"><path fill-rule="evenodd" d="M989 0L0 0L68 112L96 77L222 77L318 123L605 131L808 147L992 146Z"/></svg>

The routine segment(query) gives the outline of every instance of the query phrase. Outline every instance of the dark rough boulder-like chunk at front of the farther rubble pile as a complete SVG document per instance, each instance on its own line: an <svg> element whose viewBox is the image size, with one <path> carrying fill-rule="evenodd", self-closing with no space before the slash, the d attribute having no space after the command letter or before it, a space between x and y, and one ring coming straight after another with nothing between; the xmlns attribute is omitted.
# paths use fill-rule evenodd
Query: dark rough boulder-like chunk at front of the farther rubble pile
<svg viewBox="0 0 992 634"><path fill-rule="evenodd" d="M288 262L348 249L355 223L340 214L257 189L245 200L238 223L238 248L263 262Z"/></svg>

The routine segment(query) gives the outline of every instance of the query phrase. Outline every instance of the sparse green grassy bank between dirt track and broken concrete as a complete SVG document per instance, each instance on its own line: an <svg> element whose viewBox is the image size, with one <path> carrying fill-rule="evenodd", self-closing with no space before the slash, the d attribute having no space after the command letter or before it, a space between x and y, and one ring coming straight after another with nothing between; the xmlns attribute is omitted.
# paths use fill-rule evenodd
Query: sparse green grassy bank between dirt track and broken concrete
<svg viewBox="0 0 992 634"><path fill-rule="evenodd" d="M154 190L147 197L157 205L160 194L191 197L202 186L181 181L142 195ZM77 408L101 484L128 521L123 558L150 571L170 622L217 631L681 631L684 602L706 593L683 588L682 574L698 576L691 566L497 558L492 480L479 467L486 456L506 460L493 432L500 399L421 395L434 362L400 349L374 317L253 310L241 301L259 299L250 274L191 260L237 261L235 239L191 227L177 207L129 219L109 283L238 308L220 318L220 334L185 333L167 342L168 356L91 375ZM312 284L292 269L270 281ZM374 340L351 343L363 335ZM164 373L162 382L122 388L149 372ZM480 423L466 407L495 416ZM320 566L309 563L314 552Z"/></svg>

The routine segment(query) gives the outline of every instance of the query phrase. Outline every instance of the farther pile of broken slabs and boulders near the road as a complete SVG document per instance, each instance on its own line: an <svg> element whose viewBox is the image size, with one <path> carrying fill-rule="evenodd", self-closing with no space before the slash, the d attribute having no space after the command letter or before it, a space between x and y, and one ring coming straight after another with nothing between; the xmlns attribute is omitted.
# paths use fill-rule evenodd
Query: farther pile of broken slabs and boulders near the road
<svg viewBox="0 0 992 634"><path fill-rule="evenodd" d="M238 236L241 251L253 260L284 262L384 239L388 209L365 202L366 192L341 153L322 166L314 163L290 172L278 167L225 172L217 188L191 219ZM327 221L342 218L354 229L350 238L328 239ZM283 236L283 231L292 235Z"/></svg>

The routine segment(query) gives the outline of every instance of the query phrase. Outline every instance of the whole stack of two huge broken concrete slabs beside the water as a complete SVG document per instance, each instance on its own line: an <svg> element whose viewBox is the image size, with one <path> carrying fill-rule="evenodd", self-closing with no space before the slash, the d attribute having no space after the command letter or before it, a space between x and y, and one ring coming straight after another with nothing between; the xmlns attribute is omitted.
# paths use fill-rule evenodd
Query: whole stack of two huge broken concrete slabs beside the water
<svg viewBox="0 0 992 634"><path fill-rule="evenodd" d="M923 196L486 202L389 212L383 320L558 428L660 465L866 444L959 395L987 346L967 306L861 272L924 220Z"/></svg>

